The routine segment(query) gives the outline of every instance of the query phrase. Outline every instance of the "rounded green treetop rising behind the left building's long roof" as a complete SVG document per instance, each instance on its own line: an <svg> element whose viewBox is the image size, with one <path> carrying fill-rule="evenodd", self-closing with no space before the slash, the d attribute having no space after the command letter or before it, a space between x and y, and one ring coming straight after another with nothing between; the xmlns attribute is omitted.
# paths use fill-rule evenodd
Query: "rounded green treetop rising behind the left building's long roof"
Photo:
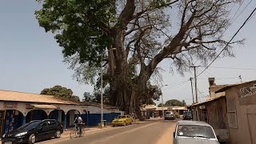
<svg viewBox="0 0 256 144"><path fill-rule="evenodd" d="M70 98L75 101L80 101L80 98L78 96L73 95L73 91L71 89L67 89L66 87L58 85L51 88L43 89L40 94L54 95L62 98Z"/></svg>

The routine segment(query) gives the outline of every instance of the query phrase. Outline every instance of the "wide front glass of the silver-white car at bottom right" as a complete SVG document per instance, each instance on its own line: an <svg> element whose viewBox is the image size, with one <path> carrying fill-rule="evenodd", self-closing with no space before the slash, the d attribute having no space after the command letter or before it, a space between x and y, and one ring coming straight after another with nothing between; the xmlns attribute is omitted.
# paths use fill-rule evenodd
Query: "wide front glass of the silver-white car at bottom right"
<svg viewBox="0 0 256 144"><path fill-rule="evenodd" d="M177 131L178 136L193 138L215 138L214 131L210 126L180 125Z"/></svg>

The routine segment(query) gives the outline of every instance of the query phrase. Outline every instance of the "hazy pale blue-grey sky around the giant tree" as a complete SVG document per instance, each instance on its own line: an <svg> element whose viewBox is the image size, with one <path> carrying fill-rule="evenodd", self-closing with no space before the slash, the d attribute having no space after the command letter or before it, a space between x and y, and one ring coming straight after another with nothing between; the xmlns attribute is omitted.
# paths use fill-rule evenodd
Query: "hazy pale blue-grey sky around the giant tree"
<svg viewBox="0 0 256 144"><path fill-rule="evenodd" d="M238 10L237 17L249 2L250 0L244 0L239 10L238 7L234 7L230 16ZM235 17L235 22L224 34L226 41L229 41L242 26L242 22L255 6L256 1L251 2L238 18ZM93 91L93 86L79 84L72 78L74 72L62 62L62 48L58 46L54 35L46 33L42 27L38 26L34 10L39 10L40 7L38 2L30 0L0 2L0 90L39 94L44 88L61 85L72 89L75 95L82 98L85 91ZM235 58L217 59L211 65L212 67L198 77L199 102L203 102L209 94L207 80L209 77L216 78L217 84L240 82L239 75L242 76L242 82L256 79L255 26L256 16L250 19L235 38L246 38L245 45L234 46ZM184 76L177 73L171 74L168 63L170 62L163 61L159 65L165 70L162 72L162 85L168 85L162 87L164 101L178 99L190 104L192 95L188 80L194 77L193 70L186 72ZM200 66L200 63L196 65ZM199 67L198 73L203 69Z"/></svg>

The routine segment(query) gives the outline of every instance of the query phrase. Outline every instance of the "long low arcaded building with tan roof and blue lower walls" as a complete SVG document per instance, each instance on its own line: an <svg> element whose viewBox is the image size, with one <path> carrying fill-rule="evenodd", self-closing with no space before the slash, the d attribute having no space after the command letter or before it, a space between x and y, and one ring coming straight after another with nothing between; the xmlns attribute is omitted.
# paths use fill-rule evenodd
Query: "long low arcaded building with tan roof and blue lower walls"
<svg viewBox="0 0 256 144"><path fill-rule="evenodd" d="M103 119L111 122L123 114L118 107L103 106ZM53 118L64 128L71 126L75 115L81 114L87 126L97 126L101 117L98 103L74 102L51 95L0 90L0 134L17 129L32 120Z"/></svg>

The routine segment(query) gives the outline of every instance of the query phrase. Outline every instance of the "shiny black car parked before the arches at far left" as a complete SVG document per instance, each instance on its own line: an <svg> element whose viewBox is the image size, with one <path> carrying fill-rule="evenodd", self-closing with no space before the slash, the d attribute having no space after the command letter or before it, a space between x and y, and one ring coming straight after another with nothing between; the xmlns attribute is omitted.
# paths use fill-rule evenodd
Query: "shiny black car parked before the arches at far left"
<svg viewBox="0 0 256 144"><path fill-rule="evenodd" d="M54 119L36 120L26 123L2 135L2 144L29 143L34 144L45 138L60 138L63 133L63 126Z"/></svg>

